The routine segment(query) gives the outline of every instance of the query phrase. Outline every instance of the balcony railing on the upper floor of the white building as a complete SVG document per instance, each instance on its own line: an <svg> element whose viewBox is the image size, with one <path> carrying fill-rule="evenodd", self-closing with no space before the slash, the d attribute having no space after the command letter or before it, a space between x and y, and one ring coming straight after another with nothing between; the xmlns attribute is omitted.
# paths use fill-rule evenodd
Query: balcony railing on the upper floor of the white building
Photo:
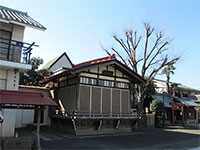
<svg viewBox="0 0 200 150"><path fill-rule="evenodd" d="M38 45L35 45L35 42L29 44L0 38L0 59L30 64L30 56L33 47L38 47Z"/></svg>

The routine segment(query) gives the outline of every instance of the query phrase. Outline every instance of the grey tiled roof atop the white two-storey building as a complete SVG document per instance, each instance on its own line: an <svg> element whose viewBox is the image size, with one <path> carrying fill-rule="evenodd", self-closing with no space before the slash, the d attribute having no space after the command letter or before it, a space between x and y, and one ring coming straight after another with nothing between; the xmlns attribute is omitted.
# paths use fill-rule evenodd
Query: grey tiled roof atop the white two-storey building
<svg viewBox="0 0 200 150"><path fill-rule="evenodd" d="M1 5L0 21L46 30L44 26L42 26L40 23L31 18L27 13L7 8Z"/></svg>

